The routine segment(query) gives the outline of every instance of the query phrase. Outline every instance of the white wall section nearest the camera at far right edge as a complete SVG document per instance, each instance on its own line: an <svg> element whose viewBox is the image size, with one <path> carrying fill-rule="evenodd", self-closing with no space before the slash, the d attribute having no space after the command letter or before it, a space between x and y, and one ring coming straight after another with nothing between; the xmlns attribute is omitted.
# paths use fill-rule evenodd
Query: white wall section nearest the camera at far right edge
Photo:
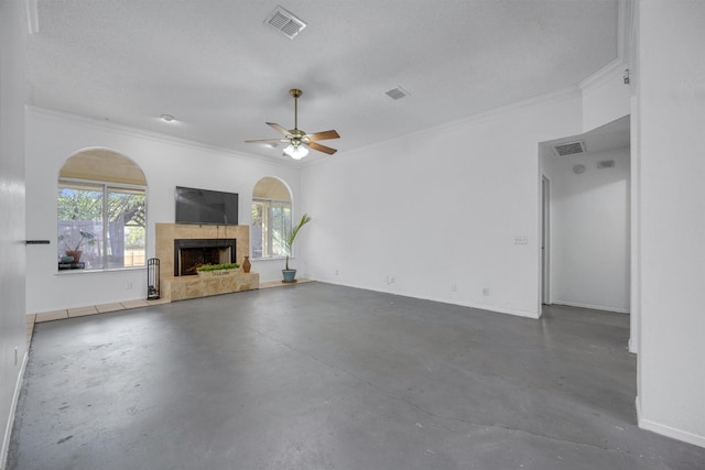
<svg viewBox="0 0 705 470"><path fill-rule="evenodd" d="M705 2L638 18L639 424L705 447Z"/></svg>

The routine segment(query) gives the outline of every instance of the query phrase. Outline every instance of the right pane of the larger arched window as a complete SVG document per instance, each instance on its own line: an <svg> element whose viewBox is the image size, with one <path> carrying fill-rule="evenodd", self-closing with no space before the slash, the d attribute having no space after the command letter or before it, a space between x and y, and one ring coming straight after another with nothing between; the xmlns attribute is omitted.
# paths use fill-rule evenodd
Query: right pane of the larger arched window
<svg viewBox="0 0 705 470"><path fill-rule="evenodd" d="M143 266L145 262L144 190L108 188L107 267Z"/></svg>

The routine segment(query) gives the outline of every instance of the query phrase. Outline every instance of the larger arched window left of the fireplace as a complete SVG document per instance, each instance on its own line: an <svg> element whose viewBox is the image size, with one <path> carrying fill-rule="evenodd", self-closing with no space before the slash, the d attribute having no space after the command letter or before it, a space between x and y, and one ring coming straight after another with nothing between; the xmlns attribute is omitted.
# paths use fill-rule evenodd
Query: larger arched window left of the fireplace
<svg viewBox="0 0 705 470"><path fill-rule="evenodd" d="M145 264L147 179L130 159L105 149L68 159L57 208L59 270Z"/></svg>

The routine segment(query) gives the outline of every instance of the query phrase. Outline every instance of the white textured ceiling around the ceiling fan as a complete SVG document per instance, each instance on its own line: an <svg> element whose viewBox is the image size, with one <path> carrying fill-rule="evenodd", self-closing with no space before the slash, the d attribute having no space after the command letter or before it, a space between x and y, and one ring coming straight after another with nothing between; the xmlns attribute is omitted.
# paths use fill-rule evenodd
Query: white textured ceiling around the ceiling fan
<svg viewBox="0 0 705 470"><path fill-rule="evenodd" d="M341 135L307 159L337 159L574 87L619 55L617 0L26 1L29 105L272 159L243 141L293 128L290 88L300 129ZM278 4L307 23L294 40L264 23Z"/></svg>

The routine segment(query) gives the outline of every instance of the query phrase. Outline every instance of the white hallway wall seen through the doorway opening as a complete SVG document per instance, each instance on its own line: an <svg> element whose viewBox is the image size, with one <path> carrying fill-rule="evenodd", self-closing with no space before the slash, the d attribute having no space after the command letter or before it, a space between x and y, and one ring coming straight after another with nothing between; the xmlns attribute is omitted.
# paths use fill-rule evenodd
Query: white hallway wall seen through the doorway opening
<svg viewBox="0 0 705 470"><path fill-rule="evenodd" d="M597 168L614 161L612 168ZM576 164L586 167L573 172ZM549 156L551 303L629 311L629 149Z"/></svg>

